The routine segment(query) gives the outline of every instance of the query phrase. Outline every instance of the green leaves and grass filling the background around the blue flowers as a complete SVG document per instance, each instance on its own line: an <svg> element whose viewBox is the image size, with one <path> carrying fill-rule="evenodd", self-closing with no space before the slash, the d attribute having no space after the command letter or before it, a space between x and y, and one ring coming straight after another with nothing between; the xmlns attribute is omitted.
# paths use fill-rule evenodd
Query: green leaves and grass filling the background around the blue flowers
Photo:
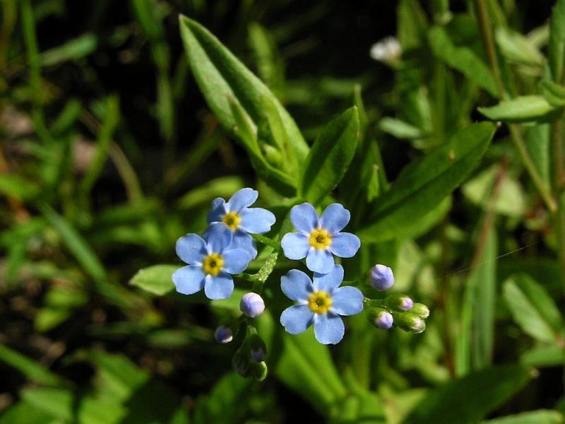
<svg viewBox="0 0 565 424"><path fill-rule="evenodd" d="M563 423L565 1L0 5L0 423ZM273 234L343 201L347 276L393 267L427 331L330 349L268 307L268 379L230 372L244 290L170 276L246 186Z"/></svg>

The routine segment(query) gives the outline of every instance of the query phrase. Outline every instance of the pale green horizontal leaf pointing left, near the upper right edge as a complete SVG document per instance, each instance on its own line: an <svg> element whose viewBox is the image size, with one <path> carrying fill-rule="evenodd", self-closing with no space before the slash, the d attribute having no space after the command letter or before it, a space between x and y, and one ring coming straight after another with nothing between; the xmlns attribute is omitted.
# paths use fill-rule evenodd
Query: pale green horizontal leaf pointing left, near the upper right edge
<svg viewBox="0 0 565 424"><path fill-rule="evenodd" d="M521 95L491 107L477 107L477 110L493 121L531 122L549 117L555 107L541 95Z"/></svg>

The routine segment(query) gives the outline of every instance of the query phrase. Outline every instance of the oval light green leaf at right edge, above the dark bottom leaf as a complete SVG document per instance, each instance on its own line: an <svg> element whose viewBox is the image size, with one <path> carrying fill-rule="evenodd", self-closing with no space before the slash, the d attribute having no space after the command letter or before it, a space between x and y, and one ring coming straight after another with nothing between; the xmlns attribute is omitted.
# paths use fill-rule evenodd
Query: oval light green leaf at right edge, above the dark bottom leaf
<svg viewBox="0 0 565 424"><path fill-rule="evenodd" d="M561 329L561 314L541 285L526 274L504 283L504 300L523 331L539 341L552 342Z"/></svg>

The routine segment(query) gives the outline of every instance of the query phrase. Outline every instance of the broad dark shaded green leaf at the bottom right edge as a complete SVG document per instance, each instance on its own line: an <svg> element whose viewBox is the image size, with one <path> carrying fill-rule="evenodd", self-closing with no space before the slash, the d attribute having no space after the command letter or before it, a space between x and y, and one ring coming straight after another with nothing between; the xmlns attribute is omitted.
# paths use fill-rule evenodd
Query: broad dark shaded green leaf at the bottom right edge
<svg viewBox="0 0 565 424"><path fill-rule="evenodd" d="M430 391L406 423L475 423L520 390L530 368L503 365L473 372Z"/></svg>

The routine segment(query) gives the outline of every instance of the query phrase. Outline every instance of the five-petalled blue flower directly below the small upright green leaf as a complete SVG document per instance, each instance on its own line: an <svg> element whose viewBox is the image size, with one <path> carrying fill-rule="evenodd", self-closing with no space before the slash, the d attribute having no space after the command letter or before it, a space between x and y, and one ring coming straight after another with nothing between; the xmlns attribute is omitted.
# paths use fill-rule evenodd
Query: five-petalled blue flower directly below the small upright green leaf
<svg viewBox="0 0 565 424"><path fill-rule="evenodd" d="M327 273L334 264L332 254L341 258L355 256L361 241L350 232L340 232L349 223L350 213L340 204L331 204L321 218L309 203L294 206L290 220L299 232L285 234L280 244L285 257L302 259L310 271Z"/></svg>

